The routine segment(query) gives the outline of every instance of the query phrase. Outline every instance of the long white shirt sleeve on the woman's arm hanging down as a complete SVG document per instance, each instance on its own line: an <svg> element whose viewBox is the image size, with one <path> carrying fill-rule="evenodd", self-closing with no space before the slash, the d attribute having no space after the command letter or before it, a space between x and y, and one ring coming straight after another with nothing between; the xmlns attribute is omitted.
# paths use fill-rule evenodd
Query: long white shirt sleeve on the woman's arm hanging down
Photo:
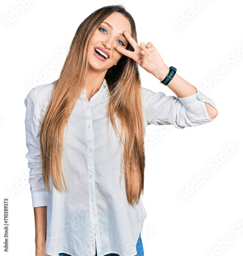
<svg viewBox="0 0 243 256"><path fill-rule="evenodd" d="M47 206L48 191L42 178L42 167L40 160L40 127L41 122L37 109L37 98L35 88L31 89L25 98L26 117L26 146L28 153L26 158L29 161L29 184L32 195L33 207Z"/></svg>

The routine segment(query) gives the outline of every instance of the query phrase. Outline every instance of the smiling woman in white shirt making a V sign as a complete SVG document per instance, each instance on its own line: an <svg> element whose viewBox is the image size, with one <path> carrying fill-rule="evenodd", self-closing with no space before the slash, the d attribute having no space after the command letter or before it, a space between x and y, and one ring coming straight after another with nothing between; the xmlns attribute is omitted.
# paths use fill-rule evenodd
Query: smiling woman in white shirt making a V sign
<svg viewBox="0 0 243 256"><path fill-rule="evenodd" d="M138 65L169 76L178 97L141 88ZM36 256L143 255L145 127L217 116L211 98L172 73L152 42L137 45L125 8L106 6L79 26L59 79L29 92Z"/></svg>

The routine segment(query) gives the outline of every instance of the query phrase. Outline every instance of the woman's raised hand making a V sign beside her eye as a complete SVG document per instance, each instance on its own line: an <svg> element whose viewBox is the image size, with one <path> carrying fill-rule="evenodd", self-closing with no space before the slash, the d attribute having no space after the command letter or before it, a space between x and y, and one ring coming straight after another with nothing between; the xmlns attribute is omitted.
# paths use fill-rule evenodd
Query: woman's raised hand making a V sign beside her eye
<svg viewBox="0 0 243 256"><path fill-rule="evenodd" d="M144 42L141 42L139 47L137 42L132 38L128 31L124 31L123 34L126 36L135 51L132 52L122 47L116 46L115 49L118 52L124 54L129 58L132 58L138 63L139 66L141 66L143 69L151 74L155 74L156 71L167 67L152 42L148 42L147 45L145 45ZM147 52L149 52L150 54L148 54Z"/></svg>

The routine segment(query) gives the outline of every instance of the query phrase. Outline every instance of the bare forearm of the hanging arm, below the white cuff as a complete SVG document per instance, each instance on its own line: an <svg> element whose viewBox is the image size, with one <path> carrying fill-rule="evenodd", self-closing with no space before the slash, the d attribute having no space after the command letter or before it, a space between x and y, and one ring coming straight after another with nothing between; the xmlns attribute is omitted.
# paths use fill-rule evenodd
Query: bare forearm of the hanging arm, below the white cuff
<svg viewBox="0 0 243 256"><path fill-rule="evenodd" d="M35 243L37 246L45 244L46 234L46 208L47 206L34 207L35 215Z"/></svg>

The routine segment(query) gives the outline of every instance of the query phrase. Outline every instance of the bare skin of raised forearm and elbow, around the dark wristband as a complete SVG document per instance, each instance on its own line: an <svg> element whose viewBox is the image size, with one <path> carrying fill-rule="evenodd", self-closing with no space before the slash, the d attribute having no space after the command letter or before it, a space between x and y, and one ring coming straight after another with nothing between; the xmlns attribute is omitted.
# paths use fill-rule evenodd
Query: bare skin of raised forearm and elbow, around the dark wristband
<svg viewBox="0 0 243 256"><path fill-rule="evenodd" d="M162 81L169 72L169 67L157 70L153 75ZM167 87L171 89L179 98L184 98L197 93L197 89L192 86L189 82L180 77L177 73L174 75L173 79L169 81ZM213 108L209 103L205 102L206 110L211 119L215 118L217 115L217 110Z"/></svg>

